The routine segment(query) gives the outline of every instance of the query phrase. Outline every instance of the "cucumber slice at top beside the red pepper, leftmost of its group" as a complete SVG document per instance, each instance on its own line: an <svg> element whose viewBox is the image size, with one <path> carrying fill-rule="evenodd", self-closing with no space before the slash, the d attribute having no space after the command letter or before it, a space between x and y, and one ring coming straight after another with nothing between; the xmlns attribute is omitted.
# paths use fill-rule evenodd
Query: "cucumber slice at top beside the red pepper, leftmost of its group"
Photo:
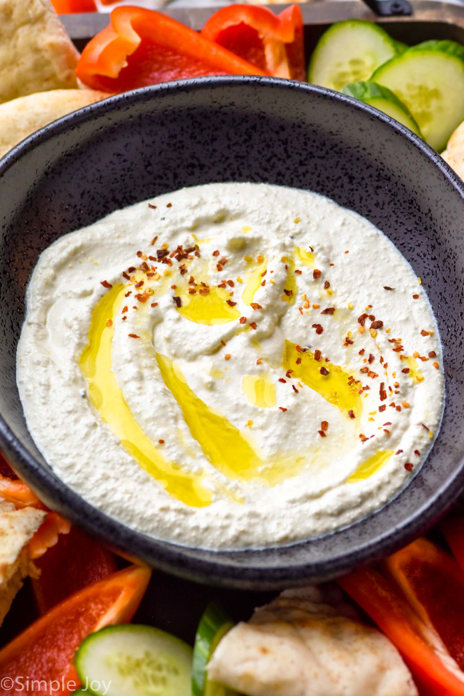
<svg viewBox="0 0 464 696"><path fill-rule="evenodd" d="M307 80L341 90L349 82L369 79L396 54L396 42L377 24L362 19L337 22L319 39Z"/></svg>

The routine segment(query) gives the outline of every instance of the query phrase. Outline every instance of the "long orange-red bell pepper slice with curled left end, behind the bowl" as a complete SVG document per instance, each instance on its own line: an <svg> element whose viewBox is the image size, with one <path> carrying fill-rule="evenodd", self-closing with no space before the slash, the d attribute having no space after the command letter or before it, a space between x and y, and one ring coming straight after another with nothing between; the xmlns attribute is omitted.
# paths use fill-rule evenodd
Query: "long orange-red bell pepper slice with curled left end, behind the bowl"
<svg viewBox="0 0 464 696"><path fill-rule="evenodd" d="M175 19L132 6L113 10L76 73L88 87L113 93L188 77L265 74Z"/></svg>

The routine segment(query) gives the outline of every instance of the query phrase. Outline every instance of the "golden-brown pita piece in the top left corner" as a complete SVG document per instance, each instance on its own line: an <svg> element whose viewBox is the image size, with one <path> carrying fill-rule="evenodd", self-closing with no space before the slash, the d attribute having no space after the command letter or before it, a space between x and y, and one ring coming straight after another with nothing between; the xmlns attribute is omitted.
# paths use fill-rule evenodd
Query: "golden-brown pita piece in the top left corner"
<svg viewBox="0 0 464 696"><path fill-rule="evenodd" d="M77 87L78 59L49 0L0 0L0 102Z"/></svg>

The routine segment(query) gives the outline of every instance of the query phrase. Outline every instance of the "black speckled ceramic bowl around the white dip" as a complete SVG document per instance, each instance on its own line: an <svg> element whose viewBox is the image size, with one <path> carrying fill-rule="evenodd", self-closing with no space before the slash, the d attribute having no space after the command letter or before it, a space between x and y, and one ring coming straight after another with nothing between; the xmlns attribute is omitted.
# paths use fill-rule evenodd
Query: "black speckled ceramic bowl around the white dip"
<svg viewBox="0 0 464 696"><path fill-rule="evenodd" d="M138 534L58 480L27 431L15 354L26 283L38 255L54 239L138 200L224 181L318 191L381 228L429 294L443 342L447 402L426 463L375 514L294 546L215 553ZM162 84L88 106L26 139L1 160L0 196L1 446L47 505L88 532L186 578L277 589L333 578L399 548L424 532L460 493L464 186L399 123L351 97L280 79Z"/></svg>

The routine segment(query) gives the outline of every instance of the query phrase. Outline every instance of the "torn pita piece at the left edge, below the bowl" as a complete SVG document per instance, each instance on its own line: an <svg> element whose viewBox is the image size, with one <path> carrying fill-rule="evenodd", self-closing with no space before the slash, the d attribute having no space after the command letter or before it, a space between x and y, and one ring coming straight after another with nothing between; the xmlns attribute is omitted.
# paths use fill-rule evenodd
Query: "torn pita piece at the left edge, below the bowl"
<svg viewBox="0 0 464 696"><path fill-rule="evenodd" d="M37 577L27 544L46 514L35 507L18 510L13 503L0 500L0 625L22 587L22 580L28 575Z"/></svg>

